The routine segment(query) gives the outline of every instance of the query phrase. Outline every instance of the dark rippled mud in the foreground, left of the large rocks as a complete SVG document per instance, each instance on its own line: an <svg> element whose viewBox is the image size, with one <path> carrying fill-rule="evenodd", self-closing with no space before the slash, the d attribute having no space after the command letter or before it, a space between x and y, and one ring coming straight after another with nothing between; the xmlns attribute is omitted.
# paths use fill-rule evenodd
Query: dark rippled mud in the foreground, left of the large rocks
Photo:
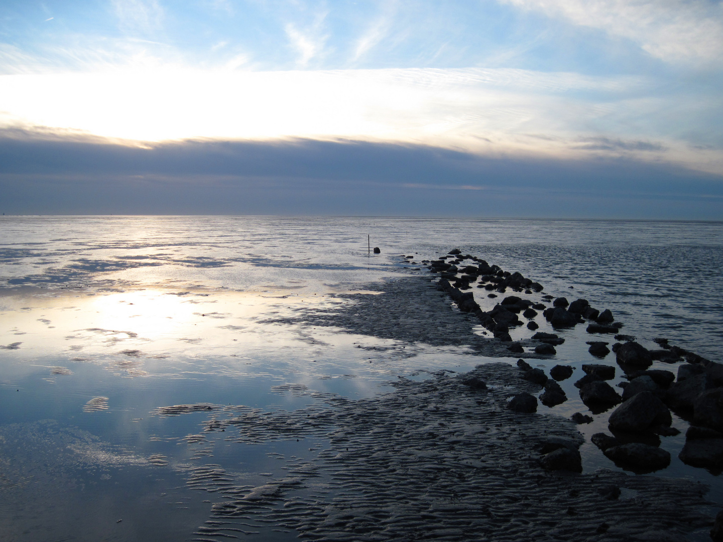
<svg viewBox="0 0 723 542"><path fill-rule="evenodd" d="M261 486L238 486L219 465L193 469L189 487L215 499L194 540L275 525L318 541L680 541L713 523L700 483L550 470L581 436L570 421L508 408L510 390L536 389L515 373L440 371L361 400L307 391L322 401L294 411L214 407L205 433L228 442L328 445L278 457L286 475Z"/></svg>

